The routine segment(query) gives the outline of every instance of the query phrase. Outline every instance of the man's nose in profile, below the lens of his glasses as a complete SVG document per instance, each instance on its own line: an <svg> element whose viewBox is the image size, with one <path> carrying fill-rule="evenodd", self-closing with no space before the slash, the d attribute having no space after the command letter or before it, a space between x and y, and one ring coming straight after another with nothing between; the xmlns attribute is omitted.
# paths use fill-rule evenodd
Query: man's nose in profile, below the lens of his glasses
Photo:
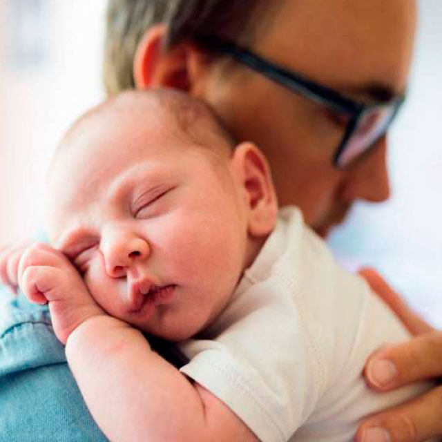
<svg viewBox="0 0 442 442"><path fill-rule="evenodd" d="M384 135L348 170L341 198L347 202L366 200L383 202L390 198L387 170L387 136Z"/></svg>

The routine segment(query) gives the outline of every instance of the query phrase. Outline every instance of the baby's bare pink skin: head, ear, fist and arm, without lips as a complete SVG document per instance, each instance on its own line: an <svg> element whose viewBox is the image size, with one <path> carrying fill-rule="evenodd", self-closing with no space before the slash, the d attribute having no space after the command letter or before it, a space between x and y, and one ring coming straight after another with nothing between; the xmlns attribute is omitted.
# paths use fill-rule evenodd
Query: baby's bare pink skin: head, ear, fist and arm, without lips
<svg viewBox="0 0 442 442"><path fill-rule="evenodd" d="M48 182L57 248L26 249L19 285L33 302L49 303L70 369L109 439L257 441L140 332L184 340L206 327L276 222L256 146L231 151L219 138L204 146L182 132L145 93L126 93L82 119ZM138 280L173 285L173 296L134 314Z"/></svg>

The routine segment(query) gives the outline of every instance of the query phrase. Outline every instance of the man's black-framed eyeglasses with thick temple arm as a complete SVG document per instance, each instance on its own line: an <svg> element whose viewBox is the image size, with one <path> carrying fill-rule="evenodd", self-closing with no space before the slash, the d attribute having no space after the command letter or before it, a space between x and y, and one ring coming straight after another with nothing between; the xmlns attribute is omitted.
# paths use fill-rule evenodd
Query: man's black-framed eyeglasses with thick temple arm
<svg viewBox="0 0 442 442"><path fill-rule="evenodd" d="M229 55L278 84L326 106L331 111L347 115L347 127L333 157L333 164L338 169L345 169L385 135L405 100L405 95L401 95L390 102L374 104L356 102L343 97L336 90L321 86L298 73L273 64L231 41L202 36L198 38L198 43L209 50Z"/></svg>

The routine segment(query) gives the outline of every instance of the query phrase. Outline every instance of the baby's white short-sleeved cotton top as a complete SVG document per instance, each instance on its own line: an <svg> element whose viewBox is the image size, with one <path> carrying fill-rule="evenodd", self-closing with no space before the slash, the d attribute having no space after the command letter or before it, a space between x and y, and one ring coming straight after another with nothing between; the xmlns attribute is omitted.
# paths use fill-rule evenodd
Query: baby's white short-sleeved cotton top
<svg viewBox="0 0 442 442"><path fill-rule="evenodd" d="M181 371L261 441L350 441L363 416L430 387L377 394L365 386L367 356L408 336L287 207L220 317L180 344L191 360Z"/></svg>

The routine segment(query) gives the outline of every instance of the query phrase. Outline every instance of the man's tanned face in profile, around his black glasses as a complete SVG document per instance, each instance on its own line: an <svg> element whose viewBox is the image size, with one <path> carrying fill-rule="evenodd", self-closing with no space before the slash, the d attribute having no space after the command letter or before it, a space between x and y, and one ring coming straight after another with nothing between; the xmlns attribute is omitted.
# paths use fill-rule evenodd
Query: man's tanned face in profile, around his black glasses
<svg viewBox="0 0 442 442"><path fill-rule="evenodd" d="M414 39L414 0L286 0L252 50L362 102L403 93ZM238 65L213 70L201 95L240 140L269 159L280 204L296 204L322 236L358 200L390 187L386 137L345 171L332 165L340 115Z"/></svg>

